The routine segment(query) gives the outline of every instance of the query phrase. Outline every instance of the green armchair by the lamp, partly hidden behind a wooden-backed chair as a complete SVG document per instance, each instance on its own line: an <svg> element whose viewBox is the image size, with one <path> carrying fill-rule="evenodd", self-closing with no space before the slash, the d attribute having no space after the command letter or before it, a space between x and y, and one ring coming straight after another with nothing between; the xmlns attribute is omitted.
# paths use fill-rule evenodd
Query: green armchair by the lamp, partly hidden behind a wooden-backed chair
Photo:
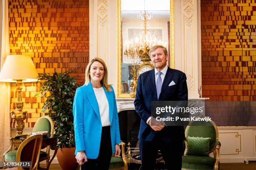
<svg viewBox="0 0 256 170"><path fill-rule="evenodd" d="M47 131L48 138L52 138L54 136L54 122L52 121L51 117L42 116L36 121L36 124L34 125L32 132L39 132L39 131ZM12 150L18 149L18 146L21 143L21 140L20 140L21 136L23 135L10 138L11 140L10 148L7 151L5 151L5 153L3 154L3 160L5 162L15 162L16 155L10 157L10 152ZM41 149L44 149L44 148L41 148ZM50 160L50 146L46 147L46 151L40 151L39 162L43 160L46 160L46 166L47 166Z"/></svg>

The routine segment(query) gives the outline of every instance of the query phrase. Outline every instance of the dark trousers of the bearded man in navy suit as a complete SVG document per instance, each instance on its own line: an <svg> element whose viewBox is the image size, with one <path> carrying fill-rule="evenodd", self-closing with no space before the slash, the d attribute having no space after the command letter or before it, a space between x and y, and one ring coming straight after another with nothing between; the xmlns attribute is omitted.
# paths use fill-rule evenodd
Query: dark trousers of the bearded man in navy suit
<svg viewBox="0 0 256 170"><path fill-rule="evenodd" d="M161 151L167 170L181 170L182 168L182 141L166 143L156 135L152 141L139 141L141 153L141 170L154 170L156 156Z"/></svg>

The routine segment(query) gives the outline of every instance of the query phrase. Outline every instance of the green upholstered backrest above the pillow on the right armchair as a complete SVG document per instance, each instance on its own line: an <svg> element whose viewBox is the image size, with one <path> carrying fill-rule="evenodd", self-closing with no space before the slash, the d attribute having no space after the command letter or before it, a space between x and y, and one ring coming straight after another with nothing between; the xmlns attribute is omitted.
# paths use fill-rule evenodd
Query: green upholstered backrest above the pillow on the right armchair
<svg viewBox="0 0 256 170"><path fill-rule="evenodd" d="M216 131L214 125L211 122L192 122L187 129L186 137L187 136L211 138L209 150L212 150L216 144Z"/></svg>

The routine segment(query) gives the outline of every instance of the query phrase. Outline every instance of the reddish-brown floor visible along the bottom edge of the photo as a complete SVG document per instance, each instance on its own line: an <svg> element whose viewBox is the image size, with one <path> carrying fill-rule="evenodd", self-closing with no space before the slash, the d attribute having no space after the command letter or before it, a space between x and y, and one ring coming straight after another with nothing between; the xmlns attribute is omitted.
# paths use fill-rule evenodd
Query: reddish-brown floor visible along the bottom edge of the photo
<svg viewBox="0 0 256 170"><path fill-rule="evenodd" d="M43 165L42 165L43 166ZM2 170L2 168L0 168ZM50 170L61 170L59 164L52 164ZM256 162L245 163L221 163L220 170L256 170Z"/></svg>

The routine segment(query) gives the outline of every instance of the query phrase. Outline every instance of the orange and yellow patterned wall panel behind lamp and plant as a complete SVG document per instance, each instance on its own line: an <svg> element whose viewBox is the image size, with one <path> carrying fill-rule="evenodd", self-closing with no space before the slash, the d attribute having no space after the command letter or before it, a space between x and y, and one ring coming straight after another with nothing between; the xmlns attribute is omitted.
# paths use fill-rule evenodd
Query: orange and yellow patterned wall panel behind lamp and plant
<svg viewBox="0 0 256 170"><path fill-rule="evenodd" d="M38 73L72 74L79 85L89 62L89 0L9 0L10 53L29 55ZM23 84L25 127L41 116L44 99L35 97L40 83ZM11 110L15 109L11 84ZM14 122L12 121L12 127Z"/></svg>

